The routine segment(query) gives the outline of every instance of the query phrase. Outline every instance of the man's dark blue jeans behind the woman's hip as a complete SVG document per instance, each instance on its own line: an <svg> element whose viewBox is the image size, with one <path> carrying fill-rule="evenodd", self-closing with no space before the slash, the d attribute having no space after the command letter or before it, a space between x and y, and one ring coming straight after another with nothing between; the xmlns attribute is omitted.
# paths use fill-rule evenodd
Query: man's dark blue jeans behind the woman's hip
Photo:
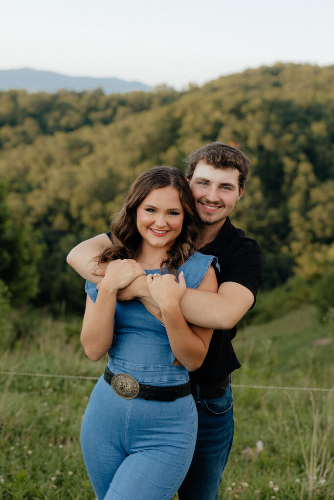
<svg viewBox="0 0 334 500"><path fill-rule="evenodd" d="M218 500L221 475L234 433L231 384L222 397L196 401L198 433L194 456L179 488L179 500Z"/></svg>

